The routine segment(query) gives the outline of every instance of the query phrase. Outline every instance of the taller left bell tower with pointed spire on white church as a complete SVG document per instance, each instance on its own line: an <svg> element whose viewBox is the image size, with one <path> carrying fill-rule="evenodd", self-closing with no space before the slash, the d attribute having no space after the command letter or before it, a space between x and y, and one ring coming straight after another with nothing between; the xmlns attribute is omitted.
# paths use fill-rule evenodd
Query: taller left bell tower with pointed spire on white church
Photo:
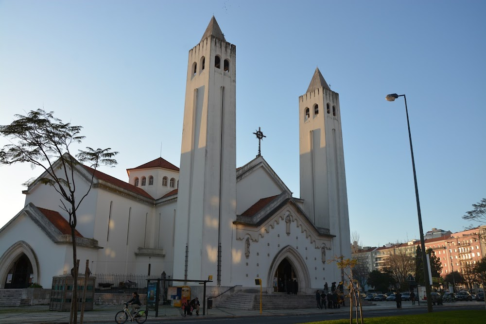
<svg viewBox="0 0 486 324"><path fill-rule="evenodd" d="M236 219L236 47L211 18L189 51L174 229L174 278L230 283Z"/></svg>

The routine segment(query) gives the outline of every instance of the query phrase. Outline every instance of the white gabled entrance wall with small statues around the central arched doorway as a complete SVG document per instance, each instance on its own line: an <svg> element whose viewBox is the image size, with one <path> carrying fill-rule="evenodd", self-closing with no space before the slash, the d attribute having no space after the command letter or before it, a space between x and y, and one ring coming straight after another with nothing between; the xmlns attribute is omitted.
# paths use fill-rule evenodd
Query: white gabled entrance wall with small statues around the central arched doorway
<svg viewBox="0 0 486 324"><path fill-rule="evenodd" d="M290 235L286 233L287 215L292 219ZM326 243L330 247L331 238L319 237L318 233L297 215L292 206L286 205L258 228L237 226L238 229L233 233L235 239L232 241L232 285L253 287L254 279L261 278L263 287L267 287L268 292L273 291L271 287L274 273L270 273L270 268L279 252L287 246L292 247L300 255L309 274L309 284L306 287L303 283L303 272L298 271L298 266L294 267L299 278L299 291L310 293L312 290L322 289L326 281L329 284L332 281L340 281L341 274L336 265L322 262L322 244ZM249 258L245 257L247 237L251 240ZM326 260L332 258L332 249L327 250Z"/></svg>

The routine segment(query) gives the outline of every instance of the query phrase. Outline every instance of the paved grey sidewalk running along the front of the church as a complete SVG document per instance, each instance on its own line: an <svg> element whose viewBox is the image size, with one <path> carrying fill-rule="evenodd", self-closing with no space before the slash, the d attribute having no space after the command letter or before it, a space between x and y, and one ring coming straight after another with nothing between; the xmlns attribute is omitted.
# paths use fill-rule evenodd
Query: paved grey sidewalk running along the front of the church
<svg viewBox="0 0 486 324"><path fill-rule="evenodd" d="M455 302L445 303L445 306L460 306L460 303L468 302ZM470 302L469 302L470 303ZM426 303L420 302L420 306L412 305L411 302L402 302L402 308L410 307L427 307ZM436 306L437 307L437 306ZM115 322L115 314L122 310L122 305L95 305L93 310L86 311L84 315L84 323L99 323L99 322ZM397 309L395 302L378 302L373 306L363 307L363 310L370 309ZM244 317L244 316L268 316L268 315L308 315L315 313L347 313L349 312L349 305L347 307L341 307L337 309L317 309L316 308L299 308L299 309L271 309L264 310L260 315L260 310L243 310L243 309L230 309L215 307L208 309L206 315L202 315L202 309L200 315L196 316L195 313L192 318L198 317L201 319L209 318L231 318L231 317ZM149 311L147 323L150 323L152 319L164 320L164 319L180 319L182 318L180 309L178 307L159 306L158 317L155 317L155 311ZM69 312L58 312L49 310L49 305L40 306L21 306L21 307L2 307L0 309L0 323L1 324L64 324L69 323ZM79 313L78 313L79 323ZM127 322L131 323L131 322ZM134 322L135 323L135 322Z"/></svg>

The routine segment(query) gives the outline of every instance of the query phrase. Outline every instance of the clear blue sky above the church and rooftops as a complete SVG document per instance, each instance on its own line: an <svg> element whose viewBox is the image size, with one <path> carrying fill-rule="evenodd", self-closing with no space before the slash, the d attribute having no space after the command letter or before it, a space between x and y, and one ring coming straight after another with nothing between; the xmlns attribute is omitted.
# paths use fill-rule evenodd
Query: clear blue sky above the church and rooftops
<svg viewBox="0 0 486 324"><path fill-rule="evenodd" d="M214 15L237 48L237 166L262 155L299 197L298 96L318 66L340 95L351 232L460 231L486 197L485 1L0 1L0 124L44 107L82 125L102 168L179 165L188 51ZM7 141L0 138L3 146ZM0 226L23 207L28 165L1 166Z"/></svg>

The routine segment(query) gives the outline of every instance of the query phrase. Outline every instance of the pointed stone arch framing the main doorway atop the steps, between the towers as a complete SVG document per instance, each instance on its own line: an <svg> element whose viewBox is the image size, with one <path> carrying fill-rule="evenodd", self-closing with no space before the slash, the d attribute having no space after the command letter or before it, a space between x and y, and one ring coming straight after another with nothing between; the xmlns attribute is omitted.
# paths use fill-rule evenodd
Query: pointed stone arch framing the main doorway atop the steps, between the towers
<svg viewBox="0 0 486 324"><path fill-rule="evenodd" d="M267 287L273 287L275 273L282 262L290 263L294 273L296 273L298 291L305 292L311 288L311 277L305 264L305 260L302 258L302 256L300 256L298 251L290 245L282 248L270 264L267 274Z"/></svg>

